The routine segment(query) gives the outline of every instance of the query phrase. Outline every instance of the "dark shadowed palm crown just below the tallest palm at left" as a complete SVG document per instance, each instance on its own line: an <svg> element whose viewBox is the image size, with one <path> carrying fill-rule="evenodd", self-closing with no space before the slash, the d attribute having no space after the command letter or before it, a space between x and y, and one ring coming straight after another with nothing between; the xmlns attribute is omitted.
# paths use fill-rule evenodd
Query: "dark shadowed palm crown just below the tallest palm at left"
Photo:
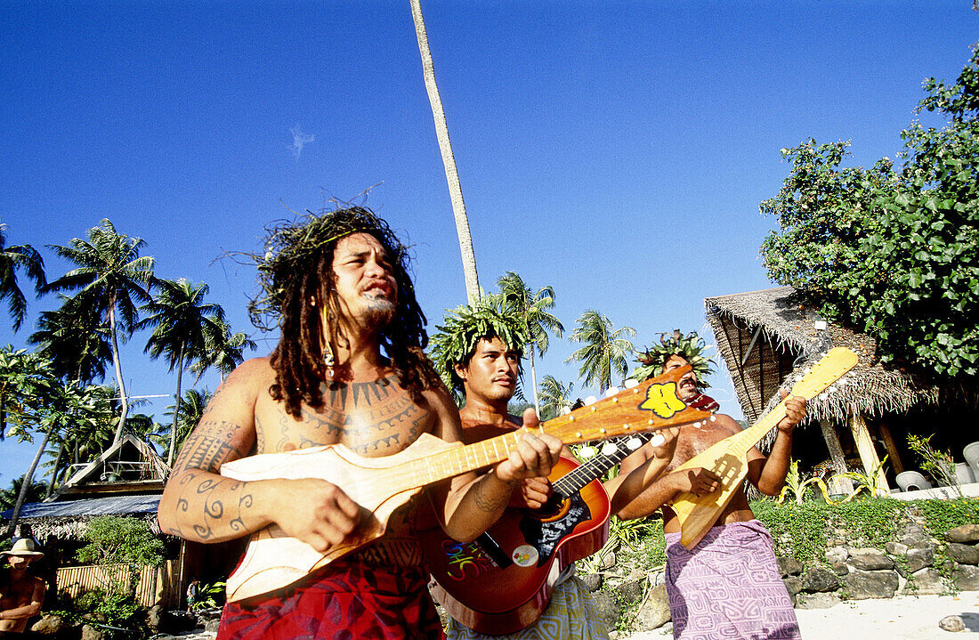
<svg viewBox="0 0 979 640"><path fill-rule="evenodd" d="M37 344L37 353L51 360L55 375L66 382L87 385L102 380L106 362L113 358L109 328L91 309L74 308L85 297L59 294L62 306L42 311L37 331L27 339Z"/></svg>

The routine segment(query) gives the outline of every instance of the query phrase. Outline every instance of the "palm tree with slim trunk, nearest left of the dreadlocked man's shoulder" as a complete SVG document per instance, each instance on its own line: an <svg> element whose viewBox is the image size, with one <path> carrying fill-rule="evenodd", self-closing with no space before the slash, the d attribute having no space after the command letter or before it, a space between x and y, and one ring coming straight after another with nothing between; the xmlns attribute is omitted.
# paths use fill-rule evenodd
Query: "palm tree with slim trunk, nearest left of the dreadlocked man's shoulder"
<svg viewBox="0 0 979 640"><path fill-rule="evenodd" d="M206 284L194 286L181 278L158 280L160 292L150 302L141 307L148 315L138 327L145 329L153 327L153 334L146 343L146 352L154 359L165 356L170 371L177 370L176 410L173 412L173 429L170 432L169 453L166 464L173 464L176 449L177 417L180 414L180 384L183 381L183 370L190 358L197 358L207 345L205 338L205 323L209 318L223 320L224 309L220 304L204 301L209 287Z"/></svg>

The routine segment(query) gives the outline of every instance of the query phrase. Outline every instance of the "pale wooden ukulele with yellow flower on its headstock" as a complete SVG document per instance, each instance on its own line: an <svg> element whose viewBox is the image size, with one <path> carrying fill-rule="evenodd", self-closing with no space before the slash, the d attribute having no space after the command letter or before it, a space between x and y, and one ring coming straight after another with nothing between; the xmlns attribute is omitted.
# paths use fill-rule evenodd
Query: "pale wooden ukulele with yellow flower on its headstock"
<svg viewBox="0 0 979 640"><path fill-rule="evenodd" d="M688 407L676 395L679 378L689 370L689 366L681 367L645 381L549 420L539 430L574 444L705 420L709 413ZM325 554L289 537L279 526L256 531L244 559L228 577L228 601L254 598L288 586L363 547L384 533L395 510L422 487L504 460L526 431L465 446L422 434L402 451L381 458L364 458L342 444L331 444L255 455L221 465L221 475L234 480L328 480L360 505L363 516L362 526ZM302 501L303 496L293 499Z"/></svg>

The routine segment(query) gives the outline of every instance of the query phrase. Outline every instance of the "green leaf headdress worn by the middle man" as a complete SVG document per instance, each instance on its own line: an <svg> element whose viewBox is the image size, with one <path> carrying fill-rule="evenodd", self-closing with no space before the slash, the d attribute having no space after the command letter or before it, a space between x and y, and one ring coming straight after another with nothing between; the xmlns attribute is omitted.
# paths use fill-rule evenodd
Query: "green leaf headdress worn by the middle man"
<svg viewBox="0 0 979 640"><path fill-rule="evenodd" d="M465 362L483 338L499 338L523 355L527 329L516 309L503 297L485 296L472 306L463 304L447 311L443 325L436 327L438 333L429 343L429 357L449 389L463 392L455 365Z"/></svg>

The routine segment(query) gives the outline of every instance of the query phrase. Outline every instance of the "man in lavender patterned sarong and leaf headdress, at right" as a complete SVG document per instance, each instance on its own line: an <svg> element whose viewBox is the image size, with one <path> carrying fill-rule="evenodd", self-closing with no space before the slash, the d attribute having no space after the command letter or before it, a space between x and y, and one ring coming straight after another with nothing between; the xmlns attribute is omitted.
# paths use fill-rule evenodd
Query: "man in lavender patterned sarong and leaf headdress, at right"
<svg viewBox="0 0 979 640"><path fill-rule="evenodd" d="M680 378L677 395L698 406L717 403L700 394L699 379L710 372L710 360L702 355L704 343L695 333L670 339L640 358L641 375L658 376L691 364L693 371ZM806 415L806 400L786 400L785 417L776 426L774 443L766 457L757 448L748 452L748 480L766 495L776 495L785 481L792 453L792 431ZM800 638L792 599L779 577L771 534L755 519L743 487L738 487L717 522L692 551L680 544L680 526L670 502L689 492L705 495L721 488L721 479L706 469L672 472L741 427L730 416L715 414L711 420L679 428L676 451L666 474L653 481L625 506L615 505L624 520L642 518L662 509L667 539L667 593L673 616L674 638ZM652 453L647 443L623 460L620 475L641 472Z"/></svg>

